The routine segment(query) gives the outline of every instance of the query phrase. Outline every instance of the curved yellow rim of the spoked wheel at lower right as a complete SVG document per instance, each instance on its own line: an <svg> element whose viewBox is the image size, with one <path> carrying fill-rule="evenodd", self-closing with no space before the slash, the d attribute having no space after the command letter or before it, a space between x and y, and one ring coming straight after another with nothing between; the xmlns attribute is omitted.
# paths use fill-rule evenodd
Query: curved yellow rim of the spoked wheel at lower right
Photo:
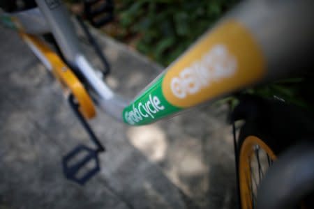
<svg viewBox="0 0 314 209"><path fill-rule="evenodd" d="M243 209L252 209L254 204L253 194L253 178L251 160L255 154L256 148L264 151L265 156L269 156L271 161L276 160L276 155L273 150L267 146L261 139L255 136L246 137L241 146L239 156L239 186L241 195L241 206ZM260 167L260 162L259 162ZM260 172L260 171L259 171ZM256 184L256 182L255 182ZM257 187L257 185L255 185Z"/></svg>

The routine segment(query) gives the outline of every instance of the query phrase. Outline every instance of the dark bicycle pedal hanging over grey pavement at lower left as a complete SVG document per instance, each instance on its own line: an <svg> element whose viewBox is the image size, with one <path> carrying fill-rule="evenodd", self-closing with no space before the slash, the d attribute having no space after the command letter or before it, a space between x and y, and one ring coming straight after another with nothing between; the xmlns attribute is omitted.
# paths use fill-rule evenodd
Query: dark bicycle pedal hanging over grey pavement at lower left
<svg viewBox="0 0 314 209"><path fill-rule="evenodd" d="M63 173L68 180L84 185L100 171L98 150L79 145L62 159Z"/></svg>

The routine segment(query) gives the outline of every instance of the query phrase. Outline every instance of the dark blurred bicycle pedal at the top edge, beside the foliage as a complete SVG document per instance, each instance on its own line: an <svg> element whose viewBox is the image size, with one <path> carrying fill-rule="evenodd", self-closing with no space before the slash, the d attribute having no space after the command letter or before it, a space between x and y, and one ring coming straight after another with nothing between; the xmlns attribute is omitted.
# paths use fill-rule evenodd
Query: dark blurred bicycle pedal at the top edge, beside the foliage
<svg viewBox="0 0 314 209"><path fill-rule="evenodd" d="M84 0L84 14L92 26L99 28L113 20L112 0Z"/></svg>

